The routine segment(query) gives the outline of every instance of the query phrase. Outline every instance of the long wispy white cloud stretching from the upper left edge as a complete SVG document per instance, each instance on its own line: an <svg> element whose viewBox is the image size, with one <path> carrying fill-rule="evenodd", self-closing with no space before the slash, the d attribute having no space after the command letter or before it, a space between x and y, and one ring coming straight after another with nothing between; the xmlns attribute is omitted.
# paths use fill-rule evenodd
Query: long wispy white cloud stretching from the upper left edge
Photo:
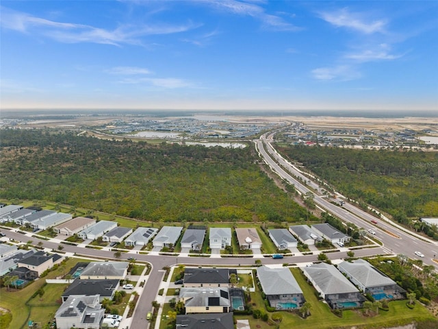
<svg viewBox="0 0 438 329"><path fill-rule="evenodd" d="M92 42L107 45L142 45L142 38L157 34L175 34L194 29L199 25L188 22L181 25L129 25L103 29L91 25L62 23L1 8L1 27L25 34L40 34L59 42Z"/></svg>

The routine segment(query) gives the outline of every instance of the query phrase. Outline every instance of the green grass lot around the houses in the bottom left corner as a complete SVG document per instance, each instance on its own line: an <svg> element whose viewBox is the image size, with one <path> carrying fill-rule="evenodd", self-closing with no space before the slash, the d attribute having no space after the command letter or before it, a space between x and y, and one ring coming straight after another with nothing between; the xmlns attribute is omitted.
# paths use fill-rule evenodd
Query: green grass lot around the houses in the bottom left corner
<svg viewBox="0 0 438 329"><path fill-rule="evenodd" d="M62 276L62 274L68 272L69 269L71 269L76 263L83 262L85 260L82 260L80 258L70 258L66 261L66 264L64 267L58 267L55 271L49 272L46 277L36 280L35 282L29 284L29 286L20 289L15 290L11 289L11 291L8 291L6 288L0 289L0 306L3 308L7 308L12 313L12 321L10 323L9 328L11 329L18 329L25 324L25 321L27 321L27 315L29 315L30 307L26 305L27 300L44 285L46 282L45 279L53 279L57 276ZM52 300L55 298L56 289L48 288L49 291L45 291L43 295L43 299ZM58 290L59 297L61 296L63 290ZM47 296L46 296L47 293ZM39 298L36 297L36 298ZM44 302L46 303L46 302ZM56 310L58 306L53 306L53 309ZM52 306L48 306L47 308L44 308L44 312L41 312L41 308L34 308L32 307L32 313L30 319L34 321L39 321L40 323L47 323L47 321L51 320L51 317L53 317L53 310L51 309Z"/></svg>

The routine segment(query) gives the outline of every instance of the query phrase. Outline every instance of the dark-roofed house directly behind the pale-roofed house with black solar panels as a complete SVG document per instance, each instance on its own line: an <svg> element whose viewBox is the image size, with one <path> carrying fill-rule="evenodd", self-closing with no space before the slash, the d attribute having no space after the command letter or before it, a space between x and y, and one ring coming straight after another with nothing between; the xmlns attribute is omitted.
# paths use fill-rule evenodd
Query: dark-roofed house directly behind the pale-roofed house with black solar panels
<svg viewBox="0 0 438 329"><path fill-rule="evenodd" d="M185 267L184 287L229 287L229 269L198 269Z"/></svg>

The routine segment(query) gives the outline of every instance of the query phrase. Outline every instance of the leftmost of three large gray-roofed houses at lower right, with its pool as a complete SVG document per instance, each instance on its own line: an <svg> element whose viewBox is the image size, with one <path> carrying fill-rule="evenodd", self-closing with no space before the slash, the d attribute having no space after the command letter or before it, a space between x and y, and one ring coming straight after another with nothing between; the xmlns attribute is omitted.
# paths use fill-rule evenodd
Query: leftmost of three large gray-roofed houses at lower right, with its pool
<svg viewBox="0 0 438 329"><path fill-rule="evenodd" d="M298 309L306 301L298 282L287 267L257 267L257 278L270 306L277 310Z"/></svg>

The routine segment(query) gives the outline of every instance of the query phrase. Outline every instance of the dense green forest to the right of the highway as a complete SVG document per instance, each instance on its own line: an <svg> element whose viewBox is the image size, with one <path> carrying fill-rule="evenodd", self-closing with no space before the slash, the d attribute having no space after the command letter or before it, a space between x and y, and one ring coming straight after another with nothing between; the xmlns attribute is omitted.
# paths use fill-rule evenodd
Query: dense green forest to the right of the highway
<svg viewBox="0 0 438 329"><path fill-rule="evenodd" d="M409 217L438 217L436 152L295 145L279 149L339 192L402 223L409 223Z"/></svg>

